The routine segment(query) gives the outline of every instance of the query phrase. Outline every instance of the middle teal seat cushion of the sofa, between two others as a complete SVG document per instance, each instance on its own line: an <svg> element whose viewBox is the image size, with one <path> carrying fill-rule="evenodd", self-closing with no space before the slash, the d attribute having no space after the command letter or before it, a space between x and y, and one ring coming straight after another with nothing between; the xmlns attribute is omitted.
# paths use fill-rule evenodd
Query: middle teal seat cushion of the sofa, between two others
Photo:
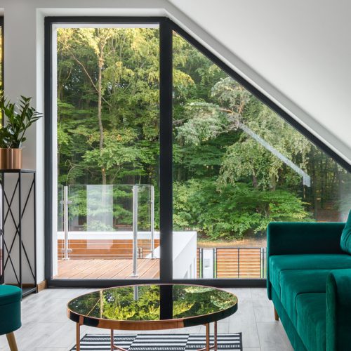
<svg viewBox="0 0 351 351"><path fill-rule="evenodd" d="M330 270L284 270L280 273L281 303L297 326L296 299L301 293L325 293Z"/></svg>

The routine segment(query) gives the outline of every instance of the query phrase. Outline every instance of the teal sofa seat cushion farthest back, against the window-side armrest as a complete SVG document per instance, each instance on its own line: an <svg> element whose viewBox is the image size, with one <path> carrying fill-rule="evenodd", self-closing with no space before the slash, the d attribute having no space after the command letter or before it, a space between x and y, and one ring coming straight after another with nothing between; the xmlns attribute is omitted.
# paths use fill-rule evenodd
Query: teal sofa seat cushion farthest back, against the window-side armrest
<svg viewBox="0 0 351 351"><path fill-rule="evenodd" d="M303 245L303 243L301 243ZM270 282L281 298L280 274L286 270L335 270L351 268L351 256L346 253L311 253L305 255L270 256Z"/></svg>

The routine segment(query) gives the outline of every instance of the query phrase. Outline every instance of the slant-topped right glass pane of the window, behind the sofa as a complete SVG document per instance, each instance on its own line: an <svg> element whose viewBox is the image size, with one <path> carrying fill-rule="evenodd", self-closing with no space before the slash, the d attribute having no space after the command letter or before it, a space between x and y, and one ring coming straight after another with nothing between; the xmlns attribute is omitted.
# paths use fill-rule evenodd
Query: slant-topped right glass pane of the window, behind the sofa
<svg viewBox="0 0 351 351"><path fill-rule="evenodd" d="M176 33L173 76L174 278L264 278L268 223L345 220L350 173Z"/></svg>

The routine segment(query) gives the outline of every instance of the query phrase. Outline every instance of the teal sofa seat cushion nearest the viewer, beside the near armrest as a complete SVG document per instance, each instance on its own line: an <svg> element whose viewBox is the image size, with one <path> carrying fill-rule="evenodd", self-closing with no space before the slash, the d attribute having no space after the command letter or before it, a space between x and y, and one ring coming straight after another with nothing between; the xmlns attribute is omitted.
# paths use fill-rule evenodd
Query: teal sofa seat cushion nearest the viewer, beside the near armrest
<svg viewBox="0 0 351 351"><path fill-rule="evenodd" d="M301 293L296 298L298 335L310 351L326 350L326 294Z"/></svg>

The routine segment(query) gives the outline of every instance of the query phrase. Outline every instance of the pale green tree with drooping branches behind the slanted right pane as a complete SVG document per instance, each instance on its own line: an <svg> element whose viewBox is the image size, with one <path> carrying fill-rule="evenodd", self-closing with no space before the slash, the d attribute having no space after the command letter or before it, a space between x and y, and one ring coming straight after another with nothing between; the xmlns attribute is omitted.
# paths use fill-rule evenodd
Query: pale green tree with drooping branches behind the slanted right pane
<svg viewBox="0 0 351 351"><path fill-rule="evenodd" d="M240 131L246 126L289 159L305 160L309 143L272 110L260 103L236 81L227 77L213 86L211 95L218 105L192 102L189 118L178 127L178 138L185 143L199 143L217 138L220 133L238 131L240 139L227 148L221 167L220 182L235 183L251 177L253 187L275 189L279 173L286 173L284 163L275 154ZM305 167L302 162L300 166Z"/></svg>

